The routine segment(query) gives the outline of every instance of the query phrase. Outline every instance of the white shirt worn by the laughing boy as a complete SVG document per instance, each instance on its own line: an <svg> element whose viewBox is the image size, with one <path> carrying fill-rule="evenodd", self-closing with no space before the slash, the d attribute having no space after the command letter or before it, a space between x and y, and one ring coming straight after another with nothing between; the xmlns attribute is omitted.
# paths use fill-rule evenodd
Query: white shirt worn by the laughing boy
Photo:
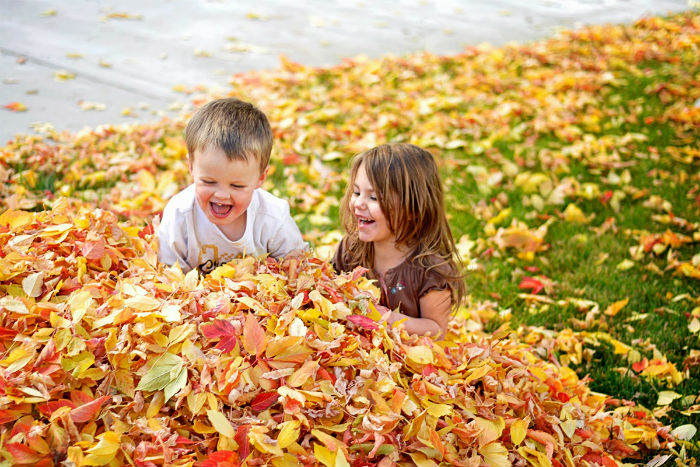
<svg viewBox="0 0 700 467"><path fill-rule="evenodd" d="M229 240L209 219L195 199L194 184L173 196L163 210L158 228L161 263L180 263L184 272L199 268L208 273L241 254L269 253L282 258L306 243L289 214L289 204L258 188L246 210L243 236Z"/></svg>

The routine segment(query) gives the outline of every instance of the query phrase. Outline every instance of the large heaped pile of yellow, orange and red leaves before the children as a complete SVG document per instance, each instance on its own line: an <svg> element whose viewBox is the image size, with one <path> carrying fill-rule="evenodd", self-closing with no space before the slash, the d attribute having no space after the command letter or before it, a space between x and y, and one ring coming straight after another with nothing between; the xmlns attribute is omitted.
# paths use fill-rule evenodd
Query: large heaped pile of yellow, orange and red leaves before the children
<svg viewBox="0 0 700 467"><path fill-rule="evenodd" d="M615 466L673 438L508 333L387 329L359 269L183 275L147 230L65 200L0 225L12 465Z"/></svg>

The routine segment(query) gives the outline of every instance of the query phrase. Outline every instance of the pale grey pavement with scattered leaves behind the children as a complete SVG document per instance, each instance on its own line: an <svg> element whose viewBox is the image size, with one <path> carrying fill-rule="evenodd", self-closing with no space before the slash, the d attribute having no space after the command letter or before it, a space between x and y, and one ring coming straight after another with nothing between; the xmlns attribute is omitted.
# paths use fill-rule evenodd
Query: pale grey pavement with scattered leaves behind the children
<svg viewBox="0 0 700 467"><path fill-rule="evenodd" d="M225 89L286 55L333 65L364 53L457 53L557 28L630 22L687 0L0 0L0 144L57 129L153 121L188 105L173 87Z"/></svg>

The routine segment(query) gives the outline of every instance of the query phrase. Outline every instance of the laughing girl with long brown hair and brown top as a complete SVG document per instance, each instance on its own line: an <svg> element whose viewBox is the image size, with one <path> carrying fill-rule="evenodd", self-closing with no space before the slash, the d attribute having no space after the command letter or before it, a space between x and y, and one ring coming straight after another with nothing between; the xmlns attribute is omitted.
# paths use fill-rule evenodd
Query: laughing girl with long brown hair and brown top
<svg viewBox="0 0 700 467"><path fill-rule="evenodd" d="M410 334L444 336L464 281L433 156L412 144L355 156L340 218L336 271L369 269L389 325L405 319Z"/></svg>

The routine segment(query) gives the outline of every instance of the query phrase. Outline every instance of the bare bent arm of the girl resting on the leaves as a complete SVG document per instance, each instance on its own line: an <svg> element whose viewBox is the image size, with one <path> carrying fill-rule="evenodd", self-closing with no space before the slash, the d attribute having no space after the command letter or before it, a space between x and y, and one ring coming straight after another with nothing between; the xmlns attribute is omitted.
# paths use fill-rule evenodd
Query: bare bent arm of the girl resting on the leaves
<svg viewBox="0 0 700 467"><path fill-rule="evenodd" d="M405 320L401 326L409 334L430 335L441 339L447 330L452 314L452 294L449 289L432 290L420 298L421 318L410 318L396 312L389 312L387 324Z"/></svg>

